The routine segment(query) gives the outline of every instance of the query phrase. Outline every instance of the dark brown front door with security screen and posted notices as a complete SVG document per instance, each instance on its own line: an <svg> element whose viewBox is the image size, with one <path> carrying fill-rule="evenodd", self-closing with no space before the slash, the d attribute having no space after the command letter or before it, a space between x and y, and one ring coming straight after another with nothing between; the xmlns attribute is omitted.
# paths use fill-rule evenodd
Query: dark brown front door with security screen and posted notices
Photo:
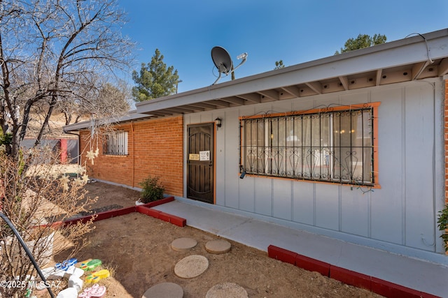
<svg viewBox="0 0 448 298"><path fill-rule="evenodd" d="M187 126L187 198L214 203L214 123Z"/></svg>

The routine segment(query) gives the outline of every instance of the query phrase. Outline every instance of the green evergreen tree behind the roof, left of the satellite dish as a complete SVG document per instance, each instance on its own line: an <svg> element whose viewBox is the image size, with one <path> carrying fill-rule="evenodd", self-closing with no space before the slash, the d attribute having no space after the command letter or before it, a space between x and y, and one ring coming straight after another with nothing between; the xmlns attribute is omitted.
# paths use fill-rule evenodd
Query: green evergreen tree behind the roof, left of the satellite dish
<svg viewBox="0 0 448 298"><path fill-rule="evenodd" d="M132 79L137 84L132 88L136 103L176 93L176 86L180 82L179 75L174 66L167 67L163 58L160 51L155 49L151 63L141 64L140 73L136 70L132 72Z"/></svg>

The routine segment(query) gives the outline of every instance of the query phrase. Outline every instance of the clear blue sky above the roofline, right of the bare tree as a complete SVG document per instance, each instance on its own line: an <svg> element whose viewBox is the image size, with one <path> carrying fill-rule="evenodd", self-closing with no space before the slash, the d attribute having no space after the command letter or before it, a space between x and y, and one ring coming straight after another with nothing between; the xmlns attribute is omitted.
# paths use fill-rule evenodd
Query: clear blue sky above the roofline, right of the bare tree
<svg viewBox="0 0 448 298"><path fill-rule="evenodd" d="M248 53L237 78L329 57L358 34L386 35L388 41L411 33L448 28L447 0L118 0L129 22L123 33L137 43L137 62L151 61L155 49L174 66L179 92L207 87L218 72L211 48L237 56ZM130 70L131 77L132 70ZM131 84L132 79L128 78ZM227 82L230 75L219 82ZM219 83L218 82L218 83Z"/></svg>

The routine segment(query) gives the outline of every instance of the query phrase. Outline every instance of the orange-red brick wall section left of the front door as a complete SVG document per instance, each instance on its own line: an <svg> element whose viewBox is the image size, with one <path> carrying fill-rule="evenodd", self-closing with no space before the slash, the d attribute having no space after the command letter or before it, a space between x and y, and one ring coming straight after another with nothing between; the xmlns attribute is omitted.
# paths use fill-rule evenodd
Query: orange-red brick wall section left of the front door
<svg viewBox="0 0 448 298"><path fill-rule="evenodd" d="M132 187L148 175L160 177L169 195L183 195L183 118L171 117L116 125L127 131L128 155L103 154L102 137L90 139L90 131L80 133L81 165L92 179ZM99 149L93 163L87 151Z"/></svg>

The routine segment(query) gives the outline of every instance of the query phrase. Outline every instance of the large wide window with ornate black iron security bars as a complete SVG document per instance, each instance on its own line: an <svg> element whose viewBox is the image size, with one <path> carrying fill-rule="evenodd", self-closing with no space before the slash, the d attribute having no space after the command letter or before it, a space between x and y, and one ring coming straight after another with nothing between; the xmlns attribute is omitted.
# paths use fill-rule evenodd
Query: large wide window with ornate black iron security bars
<svg viewBox="0 0 448 298"><path fill-rule="evenodd" d="M373 186L373 107L241 119L241 172Z"/></svg>

